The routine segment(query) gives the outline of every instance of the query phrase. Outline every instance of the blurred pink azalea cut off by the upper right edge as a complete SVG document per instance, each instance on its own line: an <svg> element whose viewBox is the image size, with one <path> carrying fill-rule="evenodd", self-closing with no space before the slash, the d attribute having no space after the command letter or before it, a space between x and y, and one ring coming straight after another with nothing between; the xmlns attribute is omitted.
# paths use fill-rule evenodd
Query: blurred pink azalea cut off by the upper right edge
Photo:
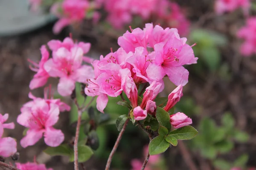
<svg viewBox="0 0 256 170"><path fill-rule="evenodd" d="M237 32L239 38L244 39L240 51L245 57L256 53L256 36L254 36L256 29L256 17L250 17L246 21L246 26Z"/></svg>

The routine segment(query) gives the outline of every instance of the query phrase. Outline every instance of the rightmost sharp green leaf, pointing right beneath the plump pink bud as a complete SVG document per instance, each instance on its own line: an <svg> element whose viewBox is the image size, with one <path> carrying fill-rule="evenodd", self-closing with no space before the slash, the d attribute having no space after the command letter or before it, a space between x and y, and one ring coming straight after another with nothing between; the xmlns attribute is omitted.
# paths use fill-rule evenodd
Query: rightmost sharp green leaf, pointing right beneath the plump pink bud
<svg viewBox="0 0 256 170"><path fill-rule="evenodd" d="M168 136L173 136L178 140L189 140L196 136L198 131L192 126L184 126L178 129L172 130Z"/></svg>

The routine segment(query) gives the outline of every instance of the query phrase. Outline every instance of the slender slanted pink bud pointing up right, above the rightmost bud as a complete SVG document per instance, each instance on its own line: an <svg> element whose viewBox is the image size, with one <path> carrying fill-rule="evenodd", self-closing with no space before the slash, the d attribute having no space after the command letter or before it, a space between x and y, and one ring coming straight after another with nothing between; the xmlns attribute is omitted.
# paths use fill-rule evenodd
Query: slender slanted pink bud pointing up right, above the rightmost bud
<svg viewBox="0 0 256 170"><path fill-rule="evenodd" d="M178 101L180 101L180 97L183 96L182 93L182 85L179 85L177 88L175 88L172 93L168 96L168 102L166 104L166 107L164 107L165 111L169 111Z"/></svg>

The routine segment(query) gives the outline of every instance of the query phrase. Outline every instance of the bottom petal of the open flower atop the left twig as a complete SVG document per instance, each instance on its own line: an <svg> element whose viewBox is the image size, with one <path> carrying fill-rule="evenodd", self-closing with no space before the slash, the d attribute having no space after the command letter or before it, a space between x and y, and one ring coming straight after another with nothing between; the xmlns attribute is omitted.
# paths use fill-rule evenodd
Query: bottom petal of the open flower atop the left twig
<svg viewBox="0 0 256 170"><path fill-rule="evenodd" d="M67 77L61 77L58 83L58 93L61 96L69 96L75 89L75 82Z"/></svg>

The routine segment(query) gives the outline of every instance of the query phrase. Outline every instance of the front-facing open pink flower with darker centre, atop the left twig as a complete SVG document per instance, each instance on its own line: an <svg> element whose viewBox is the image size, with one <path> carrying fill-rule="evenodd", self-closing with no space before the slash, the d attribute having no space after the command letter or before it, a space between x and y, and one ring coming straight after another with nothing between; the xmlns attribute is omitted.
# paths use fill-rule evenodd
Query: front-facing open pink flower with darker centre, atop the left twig
<svg viewBox="0 0 256 170"><path fill-rule="evenodd" d="M93 69L81 65L83 50L74 46L70 49L61 47L52 52L52 58L44 64L44 69L51 77L60 77L58 93L69 96L75 89L75 82L86 83L87 78L93 77Z"/></svg>

